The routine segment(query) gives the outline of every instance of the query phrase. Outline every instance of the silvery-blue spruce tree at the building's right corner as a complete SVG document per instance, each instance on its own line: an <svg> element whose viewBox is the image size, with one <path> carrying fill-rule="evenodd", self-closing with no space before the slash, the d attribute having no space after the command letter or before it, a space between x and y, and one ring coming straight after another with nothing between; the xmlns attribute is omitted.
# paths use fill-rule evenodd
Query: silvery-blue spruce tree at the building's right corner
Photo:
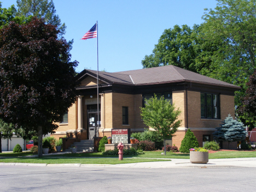
<svg viewBox="0 0 256 192"><path fill-rule="evenodd" d="M229 114L228 117L222 122L220 127L217 127L217 131L213 133L213 138L217 141L242 141L246 137L246 131L243 128L243 124L234 120Z"/></svg>

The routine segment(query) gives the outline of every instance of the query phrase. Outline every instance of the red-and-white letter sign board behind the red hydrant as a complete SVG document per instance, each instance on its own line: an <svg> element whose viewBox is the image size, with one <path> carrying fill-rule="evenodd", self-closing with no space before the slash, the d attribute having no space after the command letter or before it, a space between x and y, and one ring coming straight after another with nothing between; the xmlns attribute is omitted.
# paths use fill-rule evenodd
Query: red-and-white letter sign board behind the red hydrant
<svg viewBox="0 0 256 192"><path fill-rule="evenodd" d="M112 143L130 143L130 129L112 129Z"/></svg>

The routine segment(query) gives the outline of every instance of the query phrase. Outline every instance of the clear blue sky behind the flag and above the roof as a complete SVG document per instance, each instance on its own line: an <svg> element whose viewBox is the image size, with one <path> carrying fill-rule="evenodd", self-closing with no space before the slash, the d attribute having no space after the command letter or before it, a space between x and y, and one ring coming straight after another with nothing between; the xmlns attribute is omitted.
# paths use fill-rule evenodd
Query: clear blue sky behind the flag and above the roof
<svg viewBox="0 0 256 192"><path fill-rule="evenodd" d="M0 0L8 8L16 0ZM97 70L97 38L80 40L98 21L99 70L107 72L141 69L145 55L167 28L201 24L205 8L214 9L215 0L54 0L56 14L67 29L65 38L74 39L72 61Z"/></svg>

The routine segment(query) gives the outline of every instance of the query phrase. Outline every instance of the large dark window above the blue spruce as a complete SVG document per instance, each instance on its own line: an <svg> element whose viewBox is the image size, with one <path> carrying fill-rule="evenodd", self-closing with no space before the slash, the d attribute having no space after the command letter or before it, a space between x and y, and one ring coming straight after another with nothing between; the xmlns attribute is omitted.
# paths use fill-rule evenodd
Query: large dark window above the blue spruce
<svg viewBox="0 0 256 192"><path fill-rule="evenodd" d="M219 95L201 93L201 118L220 119Z"/></svg>

